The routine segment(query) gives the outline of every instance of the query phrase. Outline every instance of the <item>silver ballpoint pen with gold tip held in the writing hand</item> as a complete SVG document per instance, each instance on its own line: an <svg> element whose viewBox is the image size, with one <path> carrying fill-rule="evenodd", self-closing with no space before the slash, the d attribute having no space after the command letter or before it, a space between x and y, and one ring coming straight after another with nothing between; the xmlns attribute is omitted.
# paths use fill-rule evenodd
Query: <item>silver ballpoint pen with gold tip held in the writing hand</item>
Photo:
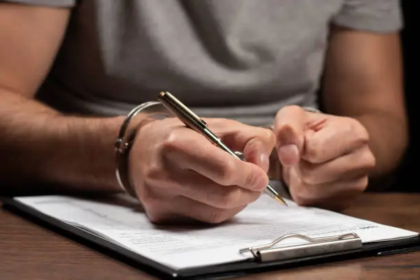
<svg viewBox="0 0 420 280"><path fill-rule="evenodd" d="M165 91L161 92L158 97L159 102L165 106L168 110L170 110L180 121L183 121L183 123L193 130L196 130L196 132L200 133L201 135L204 135L211 143L218 146L225 152L228 152L232 156L234 156L237 159L243 160L238 156L235 152L232 152L224 143L222 140L217 137L209 128L207 128L207 124L204 120L200 119L198 115L196 115L192 110L190 110L187 106L185 106L182 102L180 102L174 95L171 93ZM288 205L281 196L277 193L275 189L273 189L270 185L267 185L267 187L264 189L264 191L277 200L278 202L281 202L283 205Z"/></svg>

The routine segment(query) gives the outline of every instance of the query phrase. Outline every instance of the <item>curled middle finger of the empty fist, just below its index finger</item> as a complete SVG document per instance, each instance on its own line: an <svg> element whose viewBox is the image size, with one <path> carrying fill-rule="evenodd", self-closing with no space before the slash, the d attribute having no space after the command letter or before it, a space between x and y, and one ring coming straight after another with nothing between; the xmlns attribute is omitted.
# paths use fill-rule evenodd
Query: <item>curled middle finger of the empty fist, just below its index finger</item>
<svg viewBox="0 0 420 280"><path fill-rule="evenodd" d="M331 183L337 180L357 178L369 174L375 167L375 157L364 145L345 156L340 156L325 163L301 161L294 167L296 174L307 185Z"/></svg>

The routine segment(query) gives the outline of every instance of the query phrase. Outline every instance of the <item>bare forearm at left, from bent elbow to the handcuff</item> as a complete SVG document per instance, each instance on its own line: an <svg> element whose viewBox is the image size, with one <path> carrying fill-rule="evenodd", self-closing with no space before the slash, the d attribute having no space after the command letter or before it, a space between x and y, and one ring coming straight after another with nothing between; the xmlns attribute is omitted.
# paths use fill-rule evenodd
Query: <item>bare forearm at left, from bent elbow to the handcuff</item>
<svg viewBox="0 0 420 280"><path fill-rule="evenodd" d="M14 93L0 97L2 194L48 185L60 191L119 189L113 145L121 117L67 117Z"/></svg>

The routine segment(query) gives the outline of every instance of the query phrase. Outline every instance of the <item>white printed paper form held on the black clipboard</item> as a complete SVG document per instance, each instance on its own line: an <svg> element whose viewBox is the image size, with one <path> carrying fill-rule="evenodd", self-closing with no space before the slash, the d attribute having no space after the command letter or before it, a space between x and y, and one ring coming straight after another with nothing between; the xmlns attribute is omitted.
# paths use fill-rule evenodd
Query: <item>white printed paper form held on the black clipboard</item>
<svg viewBox="0 0 420 280"><path fill-rule="evenodd" d="M231 222L211 226L155 226L145 213L132 207L135 202L129 198L112 203L67 196L16 200L174 269L243 261L251 255L240 254L240 249L272 242L287 233L310 237L356 233L363 243L417 235L332 211L299 207L290 200L290 207L283 207L266 194Z"/></svg>

